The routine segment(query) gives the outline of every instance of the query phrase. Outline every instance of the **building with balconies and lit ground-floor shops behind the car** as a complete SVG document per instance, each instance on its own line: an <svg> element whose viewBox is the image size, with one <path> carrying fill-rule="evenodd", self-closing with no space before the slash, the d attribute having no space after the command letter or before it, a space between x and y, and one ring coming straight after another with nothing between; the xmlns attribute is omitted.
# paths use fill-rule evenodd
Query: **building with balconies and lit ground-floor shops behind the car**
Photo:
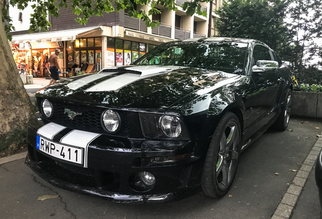
<svg viewBox="0 0 322 219"><path fill-rule="evenodd" d="M75 21L76 15L70 9L61 8L58 18L48 16L52 24L49 31L31 34L27 29L32 9L28 7L21 11L10 8L13 25L16 27L16 31L12 32L13 39L10 44L17 66L24 63L27 71L30 71L30 74L36 71L37 76L43 75L44 63L56 48L61 50L59 59L63 70L76 65L82 68L83 63L93 65L93 69L96 70L108 66L128 65L159 44L206 37L209 16L212 16L211 20L214 22L217 17L214 10L220 7L220 1L201 3L202 10L207 11L208 17L186 15L181 8L184 0L177 0L176 12L159 6L161 14L150 16L150 19L160 23L154 28L147 27L138 18L130 17L127 10L104 13L100 17L92 16L84 26ZM211 3L213 11L210 13ZM149 6L146 5L136 7L137 10L149 10ZM214 28L211 35L215 35Z"/></svg>

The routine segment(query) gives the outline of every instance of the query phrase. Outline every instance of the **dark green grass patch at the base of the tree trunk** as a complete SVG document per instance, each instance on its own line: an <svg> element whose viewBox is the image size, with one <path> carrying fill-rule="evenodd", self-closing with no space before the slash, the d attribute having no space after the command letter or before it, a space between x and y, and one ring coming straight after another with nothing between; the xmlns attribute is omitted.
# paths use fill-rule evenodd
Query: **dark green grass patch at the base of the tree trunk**
<svg viewBox="0 0 322 219"><path fill-rule="evenodd" d="M27 131L22 128L15 128L14 130L0 136L0 151L9 149L16 151L26 145Z"/></svg>

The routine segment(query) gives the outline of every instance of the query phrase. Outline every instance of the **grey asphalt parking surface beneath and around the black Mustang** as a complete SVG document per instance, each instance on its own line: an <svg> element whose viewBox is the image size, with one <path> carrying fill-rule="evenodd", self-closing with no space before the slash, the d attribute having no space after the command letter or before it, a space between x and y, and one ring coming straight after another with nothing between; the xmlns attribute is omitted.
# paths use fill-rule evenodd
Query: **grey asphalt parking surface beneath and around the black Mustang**
<svg viewBox="0 0 322 219"><path fill-rule="evenodd" d="M240 155L234 184L221 199L198 193L167 204L117 204L55 188L25 166L23 159L6 163L0 166L0 218L270 218L296 175L292 170L299 170L321 133L322 121L291 119L289 129L268 130ZM292 219L318 218L312 175ZM37 200L44 195L59 197Z"/></svg>

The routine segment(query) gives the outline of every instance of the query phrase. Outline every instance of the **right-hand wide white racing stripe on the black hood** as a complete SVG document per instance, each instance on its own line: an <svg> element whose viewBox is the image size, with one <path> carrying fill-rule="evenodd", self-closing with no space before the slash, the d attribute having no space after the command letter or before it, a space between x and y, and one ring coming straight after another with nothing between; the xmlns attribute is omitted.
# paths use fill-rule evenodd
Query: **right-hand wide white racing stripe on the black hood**
<svg viewBox="0 0 322 219"><path fill-rule="evenodd" d="M148 78L151 75L166 74L172 70L181 69L181 68L186 68L186 67L182 67L182 66L155 67L151 65L127 67L126 70L139 71L141 72L141 75L126 73L123 75L115 76L113 78L102 81L97 85L94 85L93 87L87 89L85 92L115 91L135 81Z"/></svg>

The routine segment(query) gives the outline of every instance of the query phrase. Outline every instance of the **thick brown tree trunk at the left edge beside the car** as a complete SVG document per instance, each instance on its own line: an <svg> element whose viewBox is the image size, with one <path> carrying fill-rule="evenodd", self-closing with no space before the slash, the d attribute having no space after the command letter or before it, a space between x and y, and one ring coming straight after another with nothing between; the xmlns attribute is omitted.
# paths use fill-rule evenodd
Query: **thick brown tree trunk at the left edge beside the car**
<svg viewBox="0 0 322 219"><path fill-rule="evenodd" d="M4 1L0 0L0 136L15 128L24 128L32 113L2 22Z"/></svg>

